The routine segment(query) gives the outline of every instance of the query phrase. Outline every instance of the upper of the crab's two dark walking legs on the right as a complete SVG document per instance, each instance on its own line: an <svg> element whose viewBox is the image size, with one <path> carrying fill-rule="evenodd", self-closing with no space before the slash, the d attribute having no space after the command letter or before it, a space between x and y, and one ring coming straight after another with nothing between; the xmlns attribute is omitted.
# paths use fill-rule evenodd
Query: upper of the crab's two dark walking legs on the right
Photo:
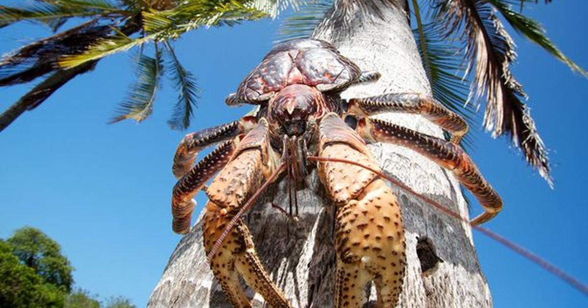
<svg viewBox="0 0 588 308"><path fill-rule="evenodd" d="M418 93L392 93L349 100L349 114L368 116L382 112L420 114L452 134L451 142L459 144L467 133L467 122L443 107L434 98Z"/></svg>

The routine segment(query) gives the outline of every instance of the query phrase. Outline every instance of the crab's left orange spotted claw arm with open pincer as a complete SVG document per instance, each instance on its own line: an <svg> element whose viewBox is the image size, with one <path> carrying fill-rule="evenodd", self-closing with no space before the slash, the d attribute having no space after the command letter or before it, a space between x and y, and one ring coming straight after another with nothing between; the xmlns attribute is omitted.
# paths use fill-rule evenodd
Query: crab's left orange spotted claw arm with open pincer
<svg viewBox="0 0 588 308"><path fill-rule="evenodd" d="M216 279L235 307L250 307L240 286L239 274L270 306L290 307L263 268L251 234L242 221L233 228L222 246L210 254L235 214L275 170L275 156L269 147L268 123L262 118L240 141L235 155L206 190L209 201L202 225L204 247Z"/></svg>

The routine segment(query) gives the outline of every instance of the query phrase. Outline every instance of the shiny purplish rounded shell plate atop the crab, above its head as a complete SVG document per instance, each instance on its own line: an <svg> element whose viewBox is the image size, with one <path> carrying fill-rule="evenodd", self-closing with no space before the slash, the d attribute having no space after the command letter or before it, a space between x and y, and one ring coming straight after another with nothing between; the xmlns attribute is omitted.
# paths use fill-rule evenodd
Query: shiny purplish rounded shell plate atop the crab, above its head
<svg viewBox="0 0 588 308"><path fill-rule="evenodd" d="M328 42L296 39L266 54L241 82L235 98L255 104L292 84L309 85L321 92L342 89L360 75L359 67Z"/></svg>

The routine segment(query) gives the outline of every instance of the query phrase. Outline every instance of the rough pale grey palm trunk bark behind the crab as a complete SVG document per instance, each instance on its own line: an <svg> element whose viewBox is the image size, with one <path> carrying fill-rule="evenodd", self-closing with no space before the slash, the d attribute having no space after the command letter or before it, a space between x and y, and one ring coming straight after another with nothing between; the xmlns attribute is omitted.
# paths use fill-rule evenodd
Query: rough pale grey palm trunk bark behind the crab
<svg viewBox="0 0 588 308"><path fill-rule="evenodd" d="M343 93L343 97L388 92L430 94L405 11L403 8L380 10L385 19L369 18L351 8L345 12L348 20L345 27L327 18L315 31L316 38L335 44L343 55L363 70L382 73L379 81L352 87ZM438 127L420 116L385 114L380 117L442 137ZM418 193L467 217L467 204L459 184L449 171L395 145L372 144L370 149L387 173ZM470 227L396 187L392 188L399 195L403 211L408 260L399 307L492 306L490 291L473 247ZM276 186L268 196L274 196L276 204L288 204L285 183ZM310 175L309 187L298 192L298 223L287 221L283 214L270 206L270 201L266 197L247 218L266 270L293 306L333 307L335 209L316 174ZM426 274L422 273L422 264L417 256L417 238L428 239L426 242L432 247L429 251L443 260ZM422 254L421 258L425 266L435 264L437 260L426 254ZM375 299L373 289L370 303ZM262 297L258 294L253 296L252 292L249 295L253 297L254 307L263 306ZM153 290L148 307L230 307L206 263L200 219L173 252Z"/></svg>

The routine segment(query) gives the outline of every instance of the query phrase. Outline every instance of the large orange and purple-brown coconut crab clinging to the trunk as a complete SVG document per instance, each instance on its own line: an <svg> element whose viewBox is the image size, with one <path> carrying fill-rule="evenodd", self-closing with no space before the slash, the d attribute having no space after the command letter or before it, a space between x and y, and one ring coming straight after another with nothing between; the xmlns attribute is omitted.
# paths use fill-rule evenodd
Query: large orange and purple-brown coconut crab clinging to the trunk
<svg viewBox="0 0 588 308"><path fill-rule="evenodd" d="M218 173L206 188L203 240L213 274L233 306L250 306L240 275L270 306L290 307L240 217L279 175L287 174L296 185L313 167L337 207L336 306L361 306L370 281L380 306L396 305L406 265L402 213L366 142L402 145L451 170L485 208L472 224L490 220L502 208L496 191L459 147L467 132L459 115L417 93L340 98L346 88L379 76L362 72L327 42L286 42L226 99L229 105L259 105L255 116L188 134L179 144L173 161L179 178L172 196L173 231L189 231L192 197ZM423 115L452 137L446 141L370 118L381 112ZM199 151L215 144L220 145L195 164Z"/></svg>

